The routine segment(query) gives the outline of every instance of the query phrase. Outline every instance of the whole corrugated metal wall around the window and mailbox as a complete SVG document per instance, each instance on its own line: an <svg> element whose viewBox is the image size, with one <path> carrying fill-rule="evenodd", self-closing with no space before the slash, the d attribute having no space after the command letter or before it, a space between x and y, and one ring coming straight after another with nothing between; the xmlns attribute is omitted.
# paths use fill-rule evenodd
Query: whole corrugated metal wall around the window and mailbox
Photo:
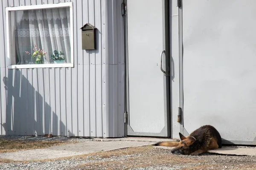
<svg viewBox="0 0 256 170"><path fill-rule="evenodd" d="M5 7L70 1L74 8L74 68L7 69ZM95 51L81 50L80 28L85 23L98 28ZM1 134L124 136L122 29L119 0L2 0Z"/></svg>

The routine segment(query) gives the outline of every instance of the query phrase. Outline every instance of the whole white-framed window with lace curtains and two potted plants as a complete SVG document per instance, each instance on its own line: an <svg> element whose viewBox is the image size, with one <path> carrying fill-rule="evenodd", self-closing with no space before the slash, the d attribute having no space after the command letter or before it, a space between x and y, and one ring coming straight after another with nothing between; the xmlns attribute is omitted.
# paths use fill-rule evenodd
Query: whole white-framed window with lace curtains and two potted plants
<svg viewBox="0 0 256 170"><path fill-rule="evenodd" d="M73 67L73 3L6 8L8 68Z"/></svg>

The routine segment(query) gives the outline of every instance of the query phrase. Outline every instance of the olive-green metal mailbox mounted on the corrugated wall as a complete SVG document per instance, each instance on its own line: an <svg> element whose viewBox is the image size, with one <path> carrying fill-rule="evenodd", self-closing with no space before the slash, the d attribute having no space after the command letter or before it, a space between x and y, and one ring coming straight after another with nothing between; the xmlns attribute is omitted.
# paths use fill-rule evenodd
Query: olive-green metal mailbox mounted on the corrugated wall
<svg viewBox="0 0 256 170"><path fill-rule="evenodd" d="M82 28L82 49L96 50L96 28L87 23Z"/></svg>

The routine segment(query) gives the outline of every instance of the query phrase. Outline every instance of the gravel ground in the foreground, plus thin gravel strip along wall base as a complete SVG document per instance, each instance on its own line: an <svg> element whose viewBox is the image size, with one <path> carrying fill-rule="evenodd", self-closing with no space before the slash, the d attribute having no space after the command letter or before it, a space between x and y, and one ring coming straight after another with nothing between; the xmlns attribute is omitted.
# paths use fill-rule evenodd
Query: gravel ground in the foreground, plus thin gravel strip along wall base
<svg viewBox="0 0 256 170"><path fill-rule="evenodd" d="M0 136L0 138L3 136ZM78 140L78 138L44 138L5 136L5 139L24 140ZM49 153L50 154L50 153ZM0 163L2 170L255 170L256 156L227 156L204 153L201 156L173 155L170 150L151 146L131 147L102 153L90 153L70 158Z"/></svg>

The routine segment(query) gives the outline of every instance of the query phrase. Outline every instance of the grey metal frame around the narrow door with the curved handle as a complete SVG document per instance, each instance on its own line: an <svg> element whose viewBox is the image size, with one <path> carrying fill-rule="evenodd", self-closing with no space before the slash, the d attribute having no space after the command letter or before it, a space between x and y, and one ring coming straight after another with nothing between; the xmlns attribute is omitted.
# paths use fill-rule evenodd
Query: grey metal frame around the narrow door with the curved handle
<svg viewBox="0 0 256 170"><path fill-rule="evenodd" d="M125 136L157 136L157 137L171 137L171 87L170 87L170 46L171 46L171 26L170 26L170 8L171 0L162 0L163 2L163 50L165 50L165 68L166 71L164 79L164 128L160 133L140 133L134 132L129 125L129 62L128 62L128 16L127 12L124 17L124 28L125 28ZM127 0L123 0L125 3L125 10L127 10ZM160 58L160 55L159 55ZM160 67L159 67L159 71ZM129 133L129 134L128 134Z"/></svg>

